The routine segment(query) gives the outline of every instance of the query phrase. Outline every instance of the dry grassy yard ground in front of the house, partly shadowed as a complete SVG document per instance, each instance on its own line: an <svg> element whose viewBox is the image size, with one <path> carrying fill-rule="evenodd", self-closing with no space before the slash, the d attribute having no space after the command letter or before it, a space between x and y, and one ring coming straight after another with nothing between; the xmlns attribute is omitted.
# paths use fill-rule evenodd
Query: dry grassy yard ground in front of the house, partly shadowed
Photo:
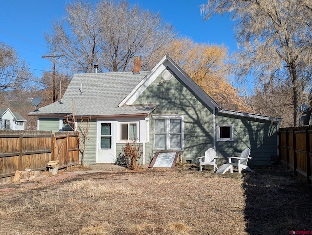
<svg viewBox="0 0 312 235"><path fill-rule="evenodd" d="M78 169L83 170L83 169ZM312 231L312 186L276 166L191 164L0 184L1 235L287 235Z"/></svg>

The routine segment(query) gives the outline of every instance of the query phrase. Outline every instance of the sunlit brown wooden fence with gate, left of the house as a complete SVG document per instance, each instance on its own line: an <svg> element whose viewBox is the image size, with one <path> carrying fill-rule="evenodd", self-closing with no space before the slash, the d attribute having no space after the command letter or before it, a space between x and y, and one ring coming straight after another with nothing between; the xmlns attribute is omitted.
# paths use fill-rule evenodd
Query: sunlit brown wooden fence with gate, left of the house
<svg viewBox="0 0 312 235"><path fill-rule="evenodd" d="M0 182L16 170L44 171L53 160L59 160L58 169L79 163L78 133L0 130Z"/></svg>

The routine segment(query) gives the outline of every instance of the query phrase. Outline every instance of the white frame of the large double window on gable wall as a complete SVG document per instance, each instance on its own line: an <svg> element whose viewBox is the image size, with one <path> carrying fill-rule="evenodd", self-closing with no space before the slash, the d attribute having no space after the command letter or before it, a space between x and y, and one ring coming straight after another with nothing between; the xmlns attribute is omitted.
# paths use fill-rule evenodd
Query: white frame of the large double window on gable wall
<svg viewBox="0 0 312 235"><path fill-rule="evenodd" d="M164 133L155 133L155 120L165 119L165 132ZM171 119L180 119L180 133L170 132L170 120ZM156 134L165 134L165 149L156 149L155 147L155 135ZM181 135L181 148L173 149L170 146L170 135L180 134ZM184 115L155 115L153 116L153 150L155 151L184 151Z"/></svg>

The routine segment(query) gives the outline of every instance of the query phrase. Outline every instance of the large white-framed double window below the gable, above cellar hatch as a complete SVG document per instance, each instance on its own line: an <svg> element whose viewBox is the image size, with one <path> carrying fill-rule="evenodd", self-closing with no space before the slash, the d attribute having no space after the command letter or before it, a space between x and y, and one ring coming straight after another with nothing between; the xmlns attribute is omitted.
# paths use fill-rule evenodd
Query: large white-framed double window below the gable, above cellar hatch
<svg viewBox="0 0 312 235"><path fill-rule="evenodd" d="M184 117L154 117L154 150L184 149Z"/></svg>

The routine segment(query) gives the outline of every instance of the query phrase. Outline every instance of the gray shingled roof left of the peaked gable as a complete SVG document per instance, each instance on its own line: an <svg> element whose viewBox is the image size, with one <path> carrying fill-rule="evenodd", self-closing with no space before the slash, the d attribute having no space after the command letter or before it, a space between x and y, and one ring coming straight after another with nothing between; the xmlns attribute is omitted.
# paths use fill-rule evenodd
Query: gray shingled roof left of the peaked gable
<svg viewBox="0 0 312 235"><path fill-rule="evenodd" d="M54 102L29 114L71 114L72 101L77 116L131 115L150 113L154 107L117 107L148 72L80 73L75 74L62 97L62 103ZM80 93L82 84L83 94Z"/></svg>

